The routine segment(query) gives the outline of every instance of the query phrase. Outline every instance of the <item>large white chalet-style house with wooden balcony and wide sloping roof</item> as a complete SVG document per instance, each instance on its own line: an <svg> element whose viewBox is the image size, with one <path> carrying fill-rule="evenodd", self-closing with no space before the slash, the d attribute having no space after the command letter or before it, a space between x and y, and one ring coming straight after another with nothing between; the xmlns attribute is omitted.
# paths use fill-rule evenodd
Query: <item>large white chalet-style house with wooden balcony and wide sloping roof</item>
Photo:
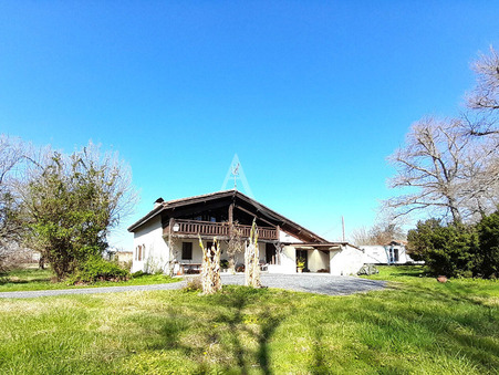
<svg viewBox="0 0 499 375"><path fill-rule="evenodd" d="M363 265L362 252L347 242L330 242L279 215L238 190L225 190L190 198L157 199L150 212L133 223L134 258L132 271L183 273L199 270L204 246L214 237L228 259L229 240L238 233L248 239L251 223L258 226L262 268L271 273L295 273L297 260L305 271L331 274L356 273ZM243 253L236 257L243 263Z"/></svg>

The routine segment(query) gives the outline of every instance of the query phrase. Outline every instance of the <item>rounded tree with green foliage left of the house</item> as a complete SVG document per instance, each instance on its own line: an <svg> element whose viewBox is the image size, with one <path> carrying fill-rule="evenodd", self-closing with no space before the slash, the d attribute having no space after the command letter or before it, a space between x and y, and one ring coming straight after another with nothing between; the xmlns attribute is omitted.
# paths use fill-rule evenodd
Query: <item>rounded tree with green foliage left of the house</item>
<svg viewBox="0 0 499 375"><path fill-rule="evenodd" d="M91 142L71 155L45 148L30 158L20 185L29 244L59 279L107 248L107 236L132 209L129 167Z"/></svg>

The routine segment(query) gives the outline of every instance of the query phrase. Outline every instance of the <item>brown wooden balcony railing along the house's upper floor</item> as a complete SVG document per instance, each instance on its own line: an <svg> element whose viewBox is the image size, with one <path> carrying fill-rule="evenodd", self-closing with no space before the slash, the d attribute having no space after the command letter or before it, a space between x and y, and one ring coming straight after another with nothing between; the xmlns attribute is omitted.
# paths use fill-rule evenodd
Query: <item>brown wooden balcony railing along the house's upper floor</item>
<svg viewBox="0 0 499 375"><path fill-rule="evenodd" d="M251 232L251 226L235 225L235 229L241 231L241 237L248 238ZM163 229L163 235L170 233L169 226ZM198 220L180 220L176 219L171 223L171 235L176 236L209 236L209 237L226 237L229 238L230 225L229 222L211 222ZM258 227L258 238L262 240L278 240L279 232L277 228Z"/></svg>

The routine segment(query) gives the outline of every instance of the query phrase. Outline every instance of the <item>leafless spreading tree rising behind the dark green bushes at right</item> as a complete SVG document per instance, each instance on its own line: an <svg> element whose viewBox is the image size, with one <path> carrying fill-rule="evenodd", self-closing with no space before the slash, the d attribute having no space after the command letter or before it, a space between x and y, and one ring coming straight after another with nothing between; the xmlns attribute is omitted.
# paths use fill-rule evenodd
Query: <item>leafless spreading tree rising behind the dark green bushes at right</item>
<svg viewBox="0 0 499 375"><path fill-rule="evenodd" d="M396 216L415 210L450 215L454 222L488 212L497 195L496 148L462 133L460 119L427 117L415 123L404 147L389 162L397 169L392 188L407 194L385 201Z"/></svg>

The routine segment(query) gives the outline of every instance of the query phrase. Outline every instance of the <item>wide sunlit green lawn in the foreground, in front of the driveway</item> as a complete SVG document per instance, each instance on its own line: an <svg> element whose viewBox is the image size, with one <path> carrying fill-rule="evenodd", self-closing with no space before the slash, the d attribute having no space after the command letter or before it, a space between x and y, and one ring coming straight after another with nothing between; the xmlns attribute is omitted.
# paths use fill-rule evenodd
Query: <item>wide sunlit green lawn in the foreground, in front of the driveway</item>
<svg viewBox="0 0 499 375"><path fill-rule="evenodd" d="M497 374L499 283L382 268L384 291L225 287L0 300L2 374Z"/></svg>

